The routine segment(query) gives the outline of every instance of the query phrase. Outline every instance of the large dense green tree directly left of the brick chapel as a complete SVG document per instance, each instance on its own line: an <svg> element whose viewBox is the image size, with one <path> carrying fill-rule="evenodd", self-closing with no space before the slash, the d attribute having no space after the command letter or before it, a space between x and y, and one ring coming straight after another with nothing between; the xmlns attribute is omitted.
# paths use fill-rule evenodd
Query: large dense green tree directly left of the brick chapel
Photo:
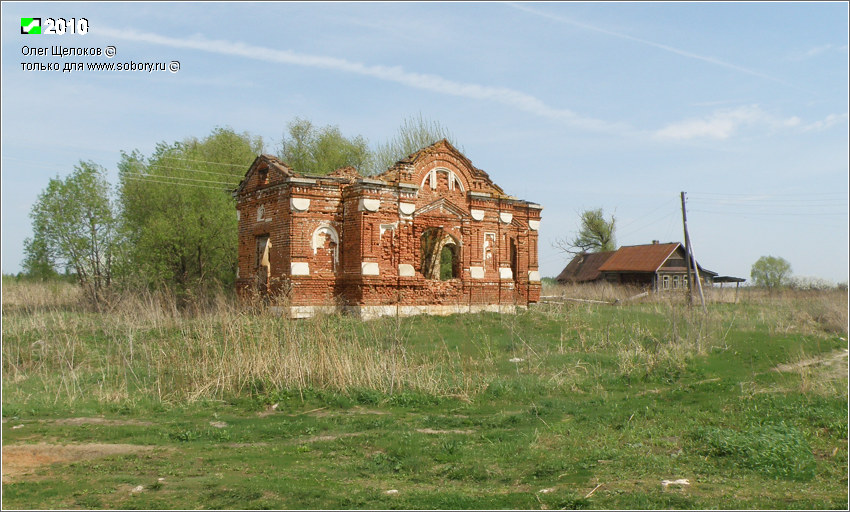
<svg viewBox="0 0 850 512"><path fill-rule="evenodd" d="M229 128L206 138L160 143L145 158L122 153L122 232L128 240L121 274L173 287L231 287L236 273L237 220L232 191L263 141Z"/></svg>

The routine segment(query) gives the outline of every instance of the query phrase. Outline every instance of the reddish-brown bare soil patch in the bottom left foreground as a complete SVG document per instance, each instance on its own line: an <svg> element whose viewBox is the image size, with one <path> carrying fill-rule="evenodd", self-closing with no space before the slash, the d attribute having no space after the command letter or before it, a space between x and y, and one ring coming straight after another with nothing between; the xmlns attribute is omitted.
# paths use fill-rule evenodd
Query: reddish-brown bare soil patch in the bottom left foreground
<svg viewBox="0 0 850 512"><path fill-rule="evenodd" d="M3 446L3 483L21 480L47 464L96 459L153 450L136 444L16 444Z"/></svg>

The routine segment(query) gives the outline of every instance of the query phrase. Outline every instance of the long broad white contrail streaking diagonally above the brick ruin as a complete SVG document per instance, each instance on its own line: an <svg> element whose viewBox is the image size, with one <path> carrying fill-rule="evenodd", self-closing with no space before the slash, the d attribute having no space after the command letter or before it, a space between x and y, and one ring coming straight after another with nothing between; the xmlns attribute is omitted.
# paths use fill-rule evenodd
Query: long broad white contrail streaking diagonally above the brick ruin
<svg viewBox="0 0 850 512"><path fill-rule="evenodd" d="M276 50L241 42L211 40L200 35L189 39L178 39L149 32L108 28L100 29L99 33L118 40L139 41L171 48L187 48L265 62L292 64L369 76L378 80L395 82L407 87L423 89L439 94L501 103L502 105L510 106L540 117L561 121L567 125L584 130L609 133L625 133L631 130L624 124L609 123L599 119L583 117L572 110L547 105L539 98L515 89L455 82L439 75L406 71L400 66L367 65L336 57L309 55L289 50Z"/></svg>

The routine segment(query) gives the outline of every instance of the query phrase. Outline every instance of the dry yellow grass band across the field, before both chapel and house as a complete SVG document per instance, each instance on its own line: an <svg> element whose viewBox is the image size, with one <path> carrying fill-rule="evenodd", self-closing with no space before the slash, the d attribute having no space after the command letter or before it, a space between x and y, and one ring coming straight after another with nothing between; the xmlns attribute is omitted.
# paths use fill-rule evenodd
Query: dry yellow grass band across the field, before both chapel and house
<svg viewBox="0 0 850 512"><path fill-rule="evenodd" d="M713 297L714 291L707 295ZM533 315L561 326L560 343L532 348L523 341L520 357L606 351L617 355L621 375L638 375L680 371L693 357L724 348L733 328L846 340L847 294L842 291L747 290L737 305L710 302L707 314L686 307L682 293L626 300L636 292L611 285L547 288L547 294L620 299L620 306L611 307L639 307L624 309L631 313L602 327L588 323L592 309L600 307L595 304L538 307ZM435 350L426 355L410 349L405 322L360 323L336 315L289 320L270 312L281 304L238 302L224 294L207 296L188 310L162 292L115 295L108 313L94 313L83 301L73 284L4 283L8 396L25 400L35 393L72 402L93 396L121 404L143 397L183 402L268 389L370 389L470 398L494 378L489 349L478 357L461 357L435 339ZM500 323L512 339L523 340L516 317L506 315ZM567 332L577 339L565 347ZM481 333L482 340L488 336ZM561 368L551 382L570 386L593 371L581 364Z"/></svg>

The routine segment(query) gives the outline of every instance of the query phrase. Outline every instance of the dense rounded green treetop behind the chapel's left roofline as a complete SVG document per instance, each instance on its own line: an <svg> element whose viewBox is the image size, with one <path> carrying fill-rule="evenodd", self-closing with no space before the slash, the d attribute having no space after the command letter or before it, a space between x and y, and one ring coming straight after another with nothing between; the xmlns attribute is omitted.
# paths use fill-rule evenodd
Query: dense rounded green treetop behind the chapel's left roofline
<svg viewBox="0 0 850 512"><path fill-rule="evenodd" d="M347 138L337 126L317 128L306 119L295 118L288 125L278 155L295 172L325 175L340 167L367 172L372 153L362 136Z"/></svg>

